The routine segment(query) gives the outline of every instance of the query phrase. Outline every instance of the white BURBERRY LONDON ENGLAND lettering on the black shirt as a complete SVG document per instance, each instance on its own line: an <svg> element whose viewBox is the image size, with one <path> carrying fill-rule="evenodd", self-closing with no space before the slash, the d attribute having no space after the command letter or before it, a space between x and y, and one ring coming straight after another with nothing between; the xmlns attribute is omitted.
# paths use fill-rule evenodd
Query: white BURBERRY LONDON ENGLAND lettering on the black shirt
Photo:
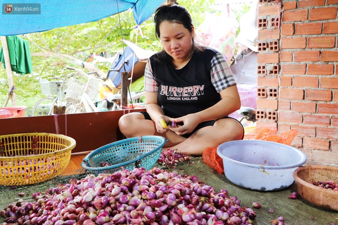
<svg viewBox="0 0 338 225"><path fill-rule="evenodd" d="M165 95L170 100L196 100L197 96L204 94L203 89L204 85L187 87L161 85L160 95Z"/></svg>

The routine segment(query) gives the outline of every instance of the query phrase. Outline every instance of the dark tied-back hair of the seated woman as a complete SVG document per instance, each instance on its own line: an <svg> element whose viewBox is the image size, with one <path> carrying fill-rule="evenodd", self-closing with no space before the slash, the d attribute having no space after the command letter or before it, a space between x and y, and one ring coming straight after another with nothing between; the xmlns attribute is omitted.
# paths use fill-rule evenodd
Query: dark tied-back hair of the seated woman
<svg viewBox="0 0 338 225"><path fill-rule="evenodd" d="M155 22L155 34L157 39L160 39L160 24L164 21L175 22L183 25L190 33L193 32L193 19L189 12L182 6L177 4L167 4L160 6L154 16ZM201 51L204 48L196 44L193 37L193 49L194 51ZM164 57L165 61L171 60L171 56L168 55L164 50L159 55L161 58ZM162 58L163 59L163 58Z"/></svg>

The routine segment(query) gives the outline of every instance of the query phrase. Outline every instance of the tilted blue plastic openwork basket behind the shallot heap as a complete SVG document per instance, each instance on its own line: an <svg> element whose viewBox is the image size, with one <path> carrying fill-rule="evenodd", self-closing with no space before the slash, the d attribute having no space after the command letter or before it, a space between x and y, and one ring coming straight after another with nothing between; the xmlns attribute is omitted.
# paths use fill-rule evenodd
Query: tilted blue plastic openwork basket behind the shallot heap
<svg viewBox="0 0 338 225"><path fill-rule="evenodd" d="M161 136L140 136L104 145L83 158L83 169L98 175L113 173L122 169L133 170L135 167L151 169L160 157L165 144ZM102 162L111 166L100 167Z"/></svg>

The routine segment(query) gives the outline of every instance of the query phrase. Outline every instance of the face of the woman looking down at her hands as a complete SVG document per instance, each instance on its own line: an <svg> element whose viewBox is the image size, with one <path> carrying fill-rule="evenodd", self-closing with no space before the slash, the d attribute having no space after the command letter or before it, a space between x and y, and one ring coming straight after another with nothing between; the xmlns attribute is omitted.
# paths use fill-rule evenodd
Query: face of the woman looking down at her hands
<svg viewBox="0 0 338 225"><path fill-rule="evenodd" d="M192 33L181 24L163 21L160 26L160 40L164 51L175 61L188 59L192 51L194 27Z"/></svg>

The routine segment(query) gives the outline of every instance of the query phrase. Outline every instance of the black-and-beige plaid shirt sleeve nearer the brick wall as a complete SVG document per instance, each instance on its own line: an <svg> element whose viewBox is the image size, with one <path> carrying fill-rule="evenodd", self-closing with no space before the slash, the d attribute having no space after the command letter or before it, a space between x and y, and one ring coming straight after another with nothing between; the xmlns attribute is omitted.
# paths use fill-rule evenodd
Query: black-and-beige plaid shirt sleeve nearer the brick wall
<svg viewBox="0 0 338 225"><path fill-rule="evenodd" d="M233 73L222 53L218 52L211 61L211 80L217 92L236 84Z"/></svg>

